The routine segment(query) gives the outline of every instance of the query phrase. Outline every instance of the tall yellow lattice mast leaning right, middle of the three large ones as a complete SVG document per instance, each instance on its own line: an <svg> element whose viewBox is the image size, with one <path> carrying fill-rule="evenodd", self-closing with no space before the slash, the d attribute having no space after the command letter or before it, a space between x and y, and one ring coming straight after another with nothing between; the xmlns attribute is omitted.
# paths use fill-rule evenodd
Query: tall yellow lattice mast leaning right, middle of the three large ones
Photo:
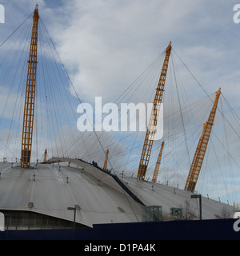
<svg viewBox="0 0 240 256"><path fill-rule="evenodd" d="M152 146L154 143L154 135L156 132L156 126L158 122L158 114L160 110L160 105L162 103L162 96L164 92L164 86L166 82L166 73L170 58L170 51L172 49L171 42L166 48L166 56L162 65L162 72L158 81L158 87L156 89L156 94L154 98L154 106L152 108L150 114L150 120L146 129L146 136L144 140L144 144L142 147L142 155L140 158L139 166L138 166L138 179L144 179L146 175L146 169L150 160L150 154L152 150Z"/></svg>

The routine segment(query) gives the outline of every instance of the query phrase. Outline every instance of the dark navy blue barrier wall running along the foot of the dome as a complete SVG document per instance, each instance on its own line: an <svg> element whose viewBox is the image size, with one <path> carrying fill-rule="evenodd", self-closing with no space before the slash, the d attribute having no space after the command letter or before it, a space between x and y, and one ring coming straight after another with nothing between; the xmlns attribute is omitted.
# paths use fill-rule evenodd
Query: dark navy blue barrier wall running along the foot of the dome
<svg viewBox="0 0 240 256"><path fill-rule="evenodd" d="M240 240L237 219L138 222L94 225L74 230L75 240ZM236 225L235 225L236 226ZM238 224L238 227L240 224ZM1 240L70 240L73 230L8 230Z"/></svg>

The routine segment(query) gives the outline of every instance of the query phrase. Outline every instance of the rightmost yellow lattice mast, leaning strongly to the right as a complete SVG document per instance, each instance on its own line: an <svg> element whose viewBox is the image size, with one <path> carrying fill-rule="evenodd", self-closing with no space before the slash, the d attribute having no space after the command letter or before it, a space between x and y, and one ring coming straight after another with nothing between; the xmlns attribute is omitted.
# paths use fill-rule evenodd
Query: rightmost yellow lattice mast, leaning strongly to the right
<svg viewBox="0 0 240 256"><path fill-rule="evenodd" d="M218 107L218 99L220 94L221 94L221 88L219 88L219 90L216 93L216 98L214 100L214 105L210 112L210 116L208 118L208 121L203 126L202 134L198 142L198 147L194 154L194 160L192 162L192 165L190 167L190 172L186 179L185 190L187 191L194 192L195 186L198 182L198 176L202 167L204 155L206 153L206 147L209 142L212 126L214 125L214 118L215 118L216 110Z"/></svg>

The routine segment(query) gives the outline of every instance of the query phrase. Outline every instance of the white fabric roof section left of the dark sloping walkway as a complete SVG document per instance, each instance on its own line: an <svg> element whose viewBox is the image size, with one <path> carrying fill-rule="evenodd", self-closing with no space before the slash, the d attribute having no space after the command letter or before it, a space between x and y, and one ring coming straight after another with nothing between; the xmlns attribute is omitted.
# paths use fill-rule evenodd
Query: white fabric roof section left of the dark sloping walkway
<svg viewBox="0 0 240 256"><path fill-rule="evenodd" d="M77 205L76 222L86 226L141 221L141 206L98 169L91 170L94 176L88 170L69 166L61 166L59 171L58 165L22 169L1 163L0 170L0 210L32 210L73 221L73 211L67 207Z"/></svg>

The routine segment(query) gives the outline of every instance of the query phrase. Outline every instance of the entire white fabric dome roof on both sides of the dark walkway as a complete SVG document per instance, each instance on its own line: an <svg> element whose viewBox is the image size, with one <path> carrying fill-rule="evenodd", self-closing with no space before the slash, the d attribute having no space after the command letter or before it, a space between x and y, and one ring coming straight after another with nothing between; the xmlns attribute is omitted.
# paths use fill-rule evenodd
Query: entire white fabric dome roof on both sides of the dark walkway
<svg viewBox="0 0 240 256"><path fill-rule="evenodd" d="M55 163L29 169L17 163L0 163L0 210L31 210L73 221L74 213L67 207L79 206L76 222L86 226L142 221L142 205L109 174L78 159L51 161ZM188 191L136 178L119 179L146 206L162 206L163 216L170 213L171 207L183 206L186 200L199 214L198 199L190 198L192 193ZM223 206L233 210L232 206L202 197L202 218L216 218Z"/></svg>

